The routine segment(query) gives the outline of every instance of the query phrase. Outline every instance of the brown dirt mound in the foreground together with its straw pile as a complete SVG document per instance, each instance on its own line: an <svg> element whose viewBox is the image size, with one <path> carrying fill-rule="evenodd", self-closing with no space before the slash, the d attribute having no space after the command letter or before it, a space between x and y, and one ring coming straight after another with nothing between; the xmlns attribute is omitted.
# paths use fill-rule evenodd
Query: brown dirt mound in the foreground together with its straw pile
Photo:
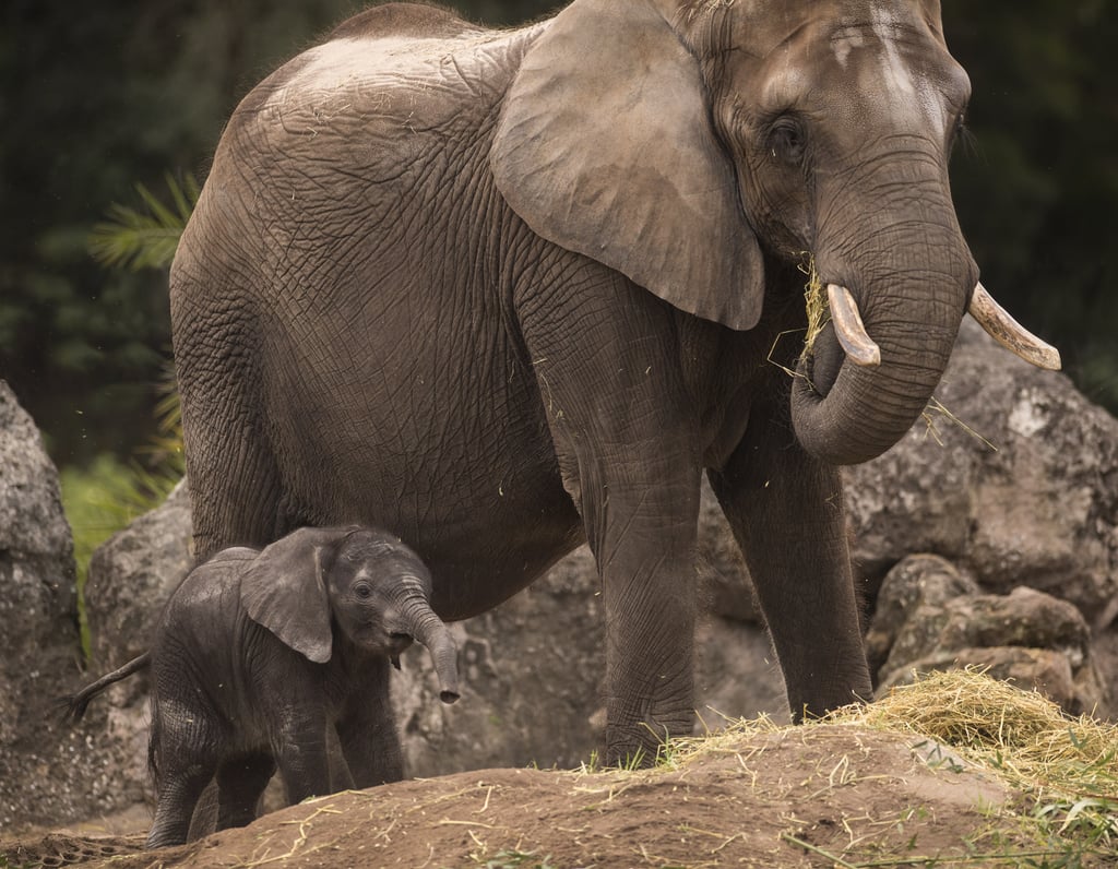
<svg viewBox="0 0 1118 869"><path fill-rule="evenodd" d="M0 867L1114 866L1118 728L937 673L821 722L733 722L648 769L458 773L141 847L53 833L0 844Z"/></svg>

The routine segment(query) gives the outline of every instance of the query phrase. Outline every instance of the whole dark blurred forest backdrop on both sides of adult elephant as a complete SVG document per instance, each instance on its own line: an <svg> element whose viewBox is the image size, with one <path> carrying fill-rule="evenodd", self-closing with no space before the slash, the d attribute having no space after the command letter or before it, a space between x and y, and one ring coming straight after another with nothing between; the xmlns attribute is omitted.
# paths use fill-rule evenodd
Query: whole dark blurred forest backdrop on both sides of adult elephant
<svg viewBox="0 0 1118 869"><path fill-rule="evenodd" d="M543 0L449 3L490 23ZM130 454L154 431L170 355L167 277L87 249L135 183L205 179L225 119L264 75L363 3L7 0L0 12L0 378L59 465ZM944 0L974 84L953 158L983 281L1118 410L1118 3Z"/></svg>

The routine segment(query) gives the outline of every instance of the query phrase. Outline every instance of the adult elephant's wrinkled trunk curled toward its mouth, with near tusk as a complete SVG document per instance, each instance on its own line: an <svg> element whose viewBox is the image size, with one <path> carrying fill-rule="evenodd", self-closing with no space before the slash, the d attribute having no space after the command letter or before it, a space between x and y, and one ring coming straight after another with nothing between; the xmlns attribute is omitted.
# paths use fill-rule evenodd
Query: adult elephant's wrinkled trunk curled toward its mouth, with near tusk
<svg viewBox="0 0 1118 869"><path fill-rule="evenodd" d="M832 320L793 386L796 436L831 464L874 459L919 418L977 283L942 169L917 161L923 178L898 179L888 161L874 166L878 179L821 200L821 215L842 216L821 219L815 253ZM852 187L873 191L871 211Z"/></svg>

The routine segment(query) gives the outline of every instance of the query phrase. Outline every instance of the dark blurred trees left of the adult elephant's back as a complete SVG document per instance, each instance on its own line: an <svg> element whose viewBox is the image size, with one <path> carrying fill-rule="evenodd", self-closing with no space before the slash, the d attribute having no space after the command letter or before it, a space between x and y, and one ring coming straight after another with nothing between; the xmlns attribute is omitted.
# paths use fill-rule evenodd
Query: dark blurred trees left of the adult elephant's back
<svg viewBox="0 0 1118 869"><path fill-rule="evenodd" d="M356 6L4 3L0 377L59 464L149 440L169 353L165 275L100 267L94 224L111 202L140 205L135 183L161 186L168 167L202 170L254 79Z"/></svg>

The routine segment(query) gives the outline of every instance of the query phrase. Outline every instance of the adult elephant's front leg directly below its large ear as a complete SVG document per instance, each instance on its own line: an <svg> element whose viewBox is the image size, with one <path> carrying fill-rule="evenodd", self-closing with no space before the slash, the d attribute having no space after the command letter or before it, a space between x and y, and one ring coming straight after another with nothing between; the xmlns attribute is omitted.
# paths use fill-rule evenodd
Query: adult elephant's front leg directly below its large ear
<svg viewBox="0 0 1118 869"><path fill-rule="evenodd" d="M524 337L601 577L606 757L651 763L694 721L698 421L673 312L597 264L586 272L533 309Z"/></svg>

